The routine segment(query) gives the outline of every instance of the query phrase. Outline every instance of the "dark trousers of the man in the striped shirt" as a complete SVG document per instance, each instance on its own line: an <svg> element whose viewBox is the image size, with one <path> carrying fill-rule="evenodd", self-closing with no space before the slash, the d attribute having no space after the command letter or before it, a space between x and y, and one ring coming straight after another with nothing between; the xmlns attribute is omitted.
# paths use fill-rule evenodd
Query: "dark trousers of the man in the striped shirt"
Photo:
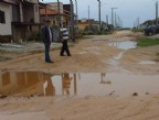
<svg viewBox="0 0 159 120"><path fill-rule="evenodd" d="M62 42L62 48L61 48L61 54L60 55L64 55L64 52L66 52L67 56L71 55L70 50L68 50L68 45L67 45L67 40L64 40Z"/></svg>

